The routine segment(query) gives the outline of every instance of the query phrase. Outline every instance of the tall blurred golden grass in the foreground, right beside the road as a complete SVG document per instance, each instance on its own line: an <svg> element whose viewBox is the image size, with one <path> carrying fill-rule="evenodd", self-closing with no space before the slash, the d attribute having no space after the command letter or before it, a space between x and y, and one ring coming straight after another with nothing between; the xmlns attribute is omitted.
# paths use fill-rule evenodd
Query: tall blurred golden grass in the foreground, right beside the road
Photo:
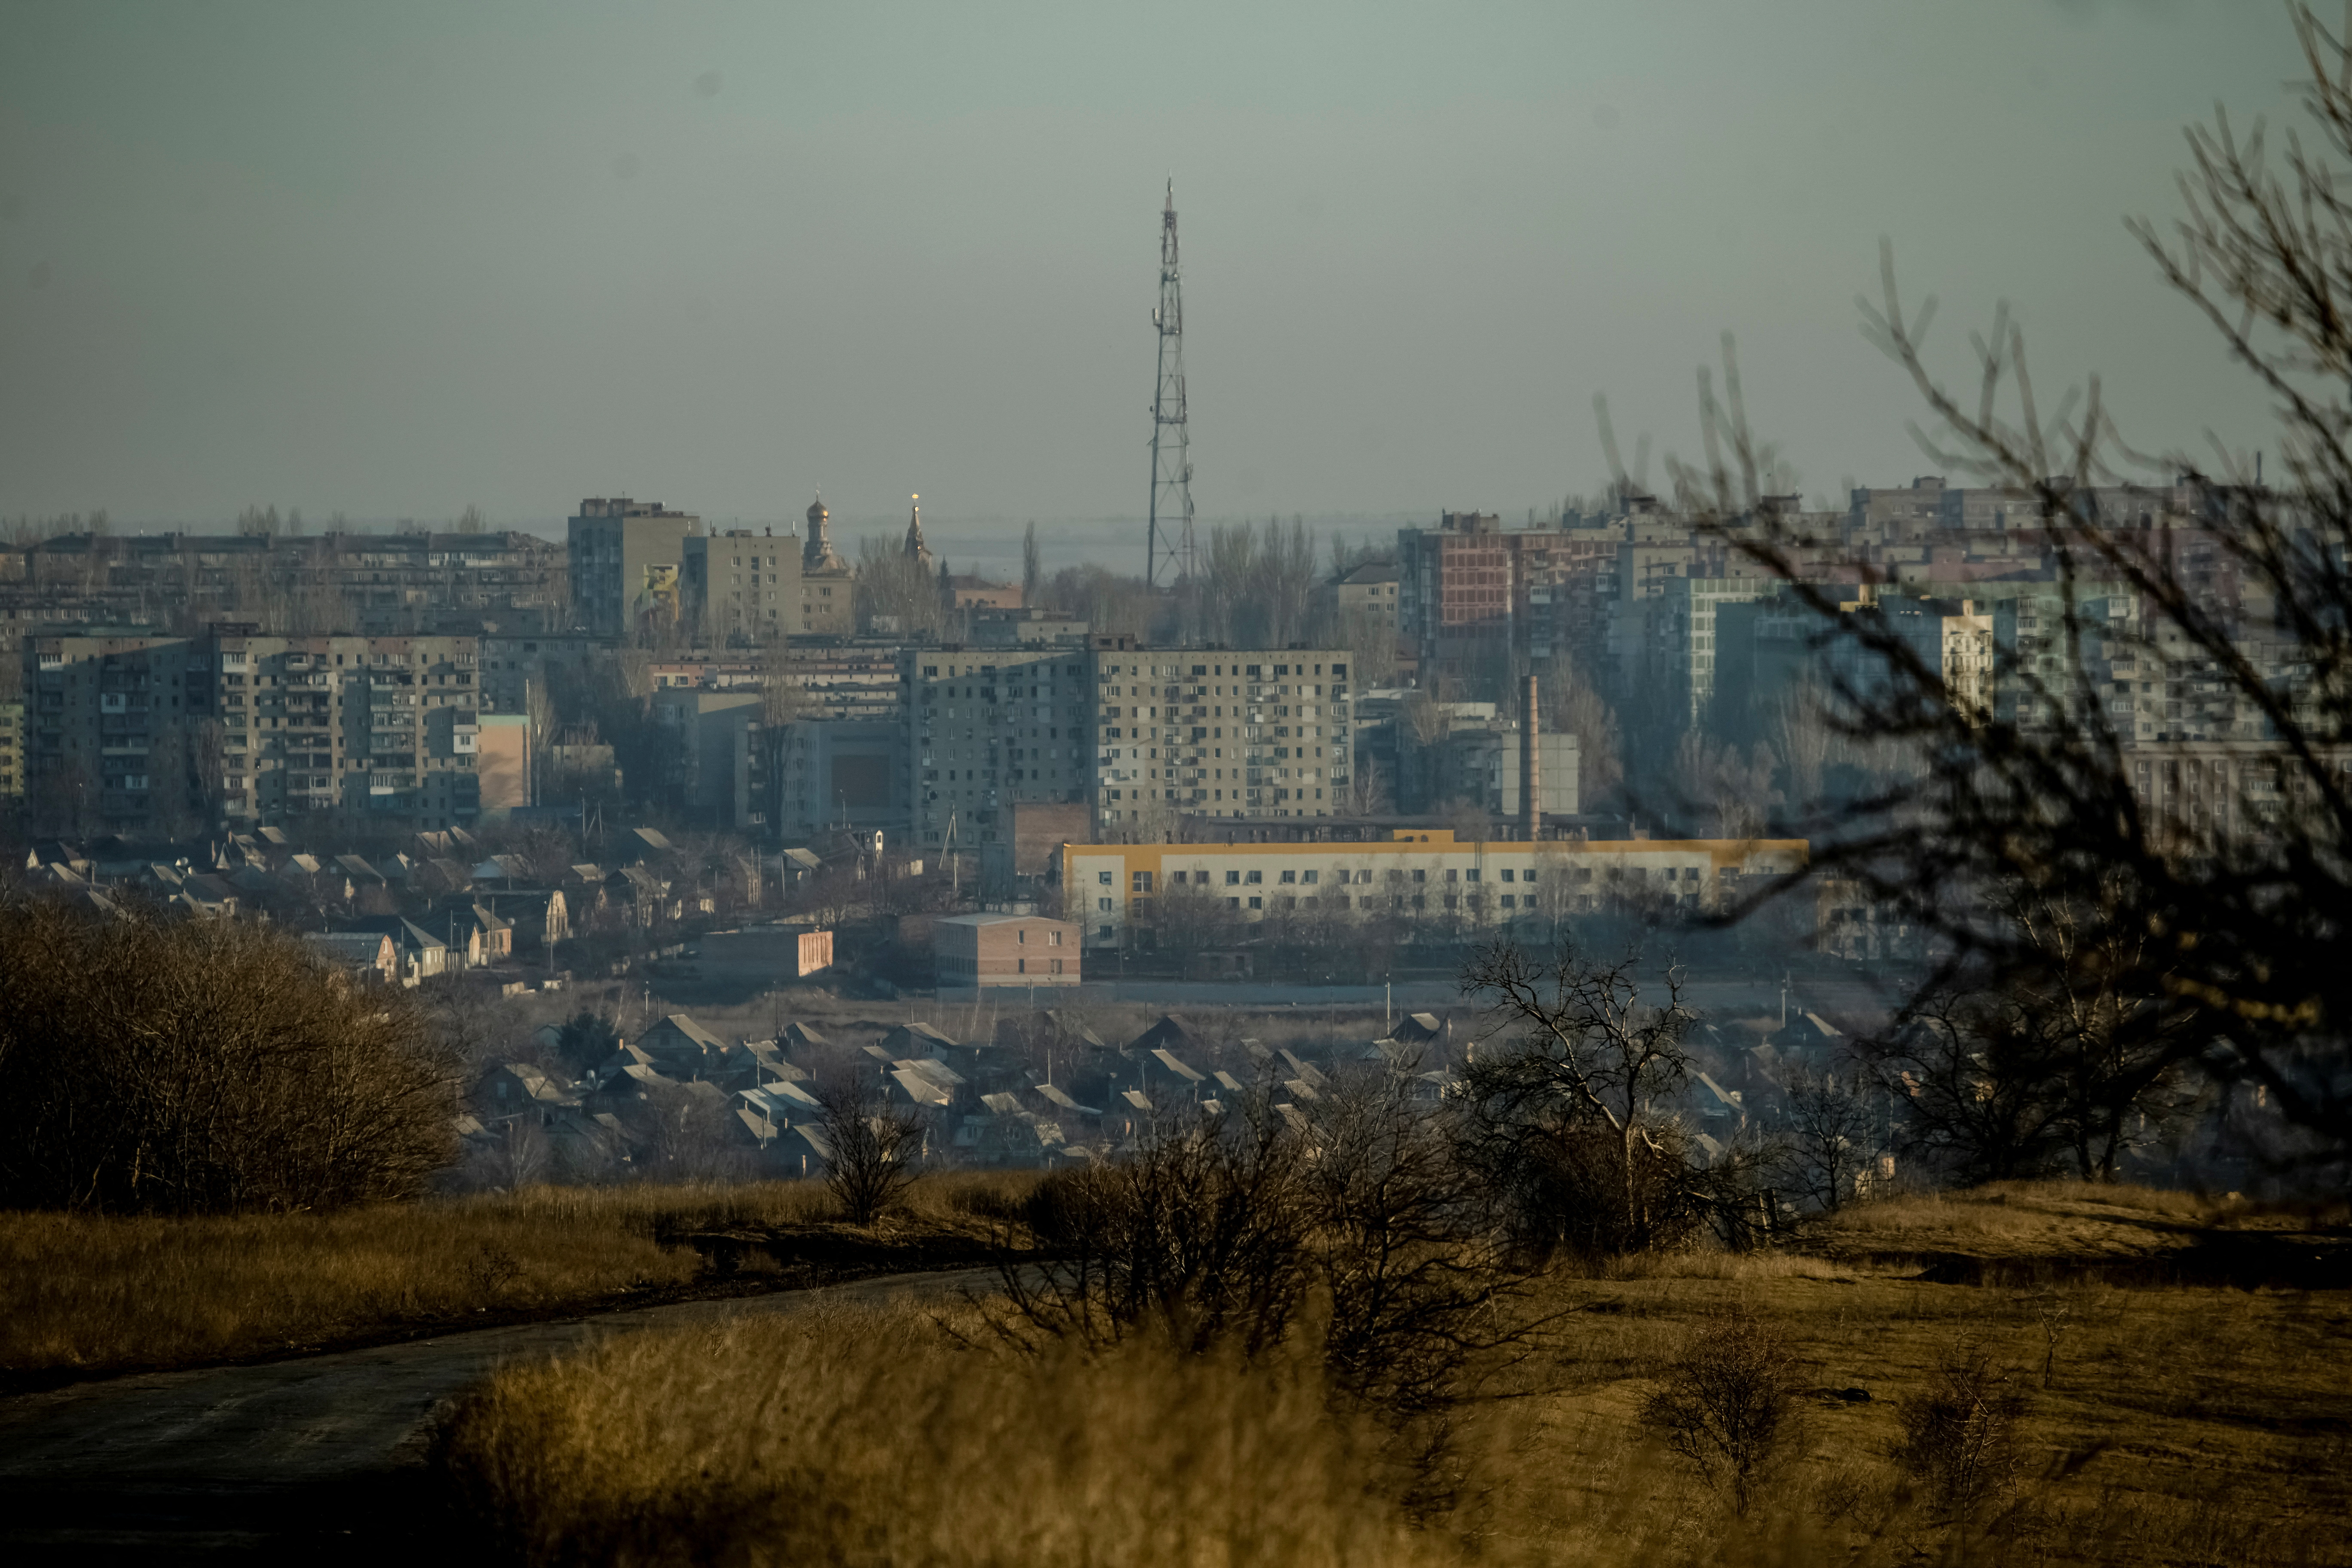
<svg viewBox="0 0 2352 1568"><path fill-rule="evenodd" d="M922 1312L630 1335L508 1371L445 1436L534 1563L1416 1563L1298 1366L1035 1363Z"/></svg>

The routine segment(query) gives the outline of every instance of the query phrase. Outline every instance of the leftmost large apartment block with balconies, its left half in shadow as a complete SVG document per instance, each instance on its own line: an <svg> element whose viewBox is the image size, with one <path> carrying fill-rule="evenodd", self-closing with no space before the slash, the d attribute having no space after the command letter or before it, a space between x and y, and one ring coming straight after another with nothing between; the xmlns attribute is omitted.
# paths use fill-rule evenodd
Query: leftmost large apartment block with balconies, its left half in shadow
<svg viewBox="0 0 2352 1568"><path fill-rule="evenodd" d="M485 766L475 637L33 637L35 832L176 837L336 816L463 827L529 802L529 736Z"/></svg>

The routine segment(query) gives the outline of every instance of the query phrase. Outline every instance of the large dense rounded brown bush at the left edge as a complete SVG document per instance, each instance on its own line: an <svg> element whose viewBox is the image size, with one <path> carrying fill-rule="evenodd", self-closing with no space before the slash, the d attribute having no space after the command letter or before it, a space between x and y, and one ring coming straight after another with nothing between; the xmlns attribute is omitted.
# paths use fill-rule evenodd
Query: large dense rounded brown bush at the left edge
<svg viewBox="0 0 2352 1568"><path fill-rule="evenodd" d="M0 997L0 1204L334 1208L454 1154L454 1063L409 999L280 931L5 907Z"/></svg>

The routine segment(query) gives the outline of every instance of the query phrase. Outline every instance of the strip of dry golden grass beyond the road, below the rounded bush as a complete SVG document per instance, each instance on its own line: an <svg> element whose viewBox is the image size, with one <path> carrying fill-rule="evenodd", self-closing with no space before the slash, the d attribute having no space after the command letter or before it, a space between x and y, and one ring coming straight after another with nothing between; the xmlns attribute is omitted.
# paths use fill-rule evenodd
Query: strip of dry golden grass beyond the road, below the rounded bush
<svg viewBox="0 0 2352 1568"><path fill-rule="evenodd" d="M1023 1173L915 1182L880 1239L971 1225ZM529 1187L339 1213L0 1213L0 1378L191 1366L466 1319L621 1307L703 1267L656 1229L821 1227L821 1182Z"/></svg>

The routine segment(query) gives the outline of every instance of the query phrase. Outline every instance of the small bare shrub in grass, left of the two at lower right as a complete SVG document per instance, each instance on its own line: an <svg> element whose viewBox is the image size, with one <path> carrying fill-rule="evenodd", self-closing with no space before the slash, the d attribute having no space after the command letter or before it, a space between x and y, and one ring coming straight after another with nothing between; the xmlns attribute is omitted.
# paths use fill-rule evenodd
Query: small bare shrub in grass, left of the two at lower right
<svg viewBox="0 0 2352 1568"><path fill-rule="evenodd" d="M1748 1512L1795 1427L1795 1354L1745 1307L1700 1324L1642 1403L1642 1422L1689 1460L1708 1486L1729 1486Z"/></svg>

